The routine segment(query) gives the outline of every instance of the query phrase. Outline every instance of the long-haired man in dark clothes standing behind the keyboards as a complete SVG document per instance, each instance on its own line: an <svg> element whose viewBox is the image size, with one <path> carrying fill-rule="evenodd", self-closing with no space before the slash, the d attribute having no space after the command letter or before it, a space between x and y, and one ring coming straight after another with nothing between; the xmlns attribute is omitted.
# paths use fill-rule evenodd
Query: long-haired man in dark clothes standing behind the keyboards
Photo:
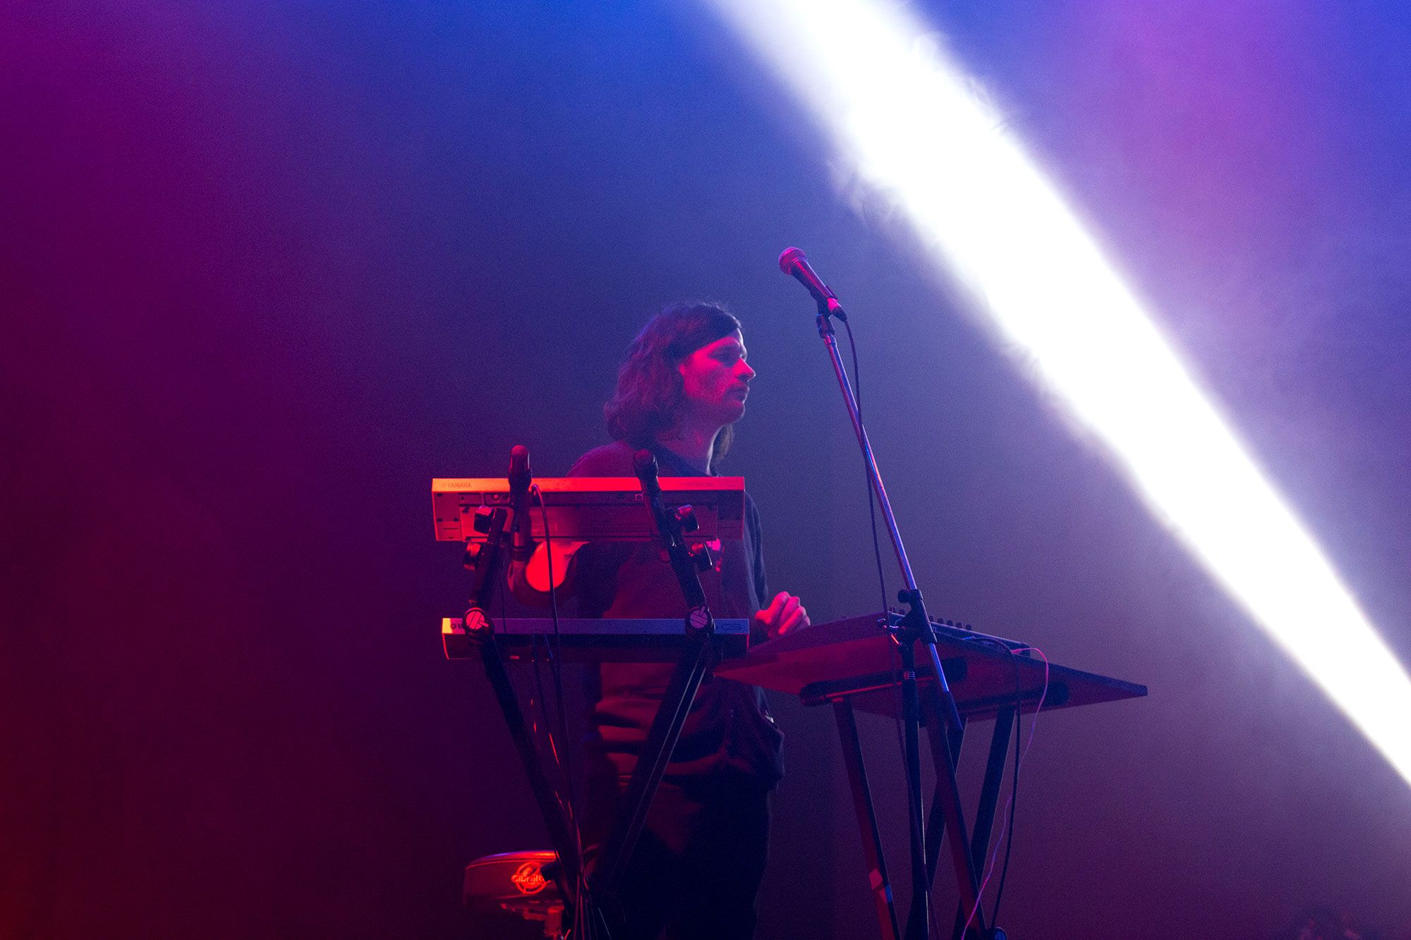
<svg viewBox="0 0 1411 940"><path fill-rule="evenodd" d="M707 476L745 414L755 370L737 320L717 303L667 306L632 342L605 406L614 443L584 454L570 476L631 477L632 454L656 454L662 476ZM540 545L512 580L525 600L549 590L549 570L577 597L580 617L676 617L684 600L655 545ZM809 625L789 593L768 597L759 514L745 495L745 534L720 545L701 587L720 618L752 618L755 639ZM590 689L584 836L601 844L672 673L670 665L602 663ZM765 696L707 676L672 754L628 867L625 933L614 940L751 937L769 836L769 792L783 773Z"/></svg>

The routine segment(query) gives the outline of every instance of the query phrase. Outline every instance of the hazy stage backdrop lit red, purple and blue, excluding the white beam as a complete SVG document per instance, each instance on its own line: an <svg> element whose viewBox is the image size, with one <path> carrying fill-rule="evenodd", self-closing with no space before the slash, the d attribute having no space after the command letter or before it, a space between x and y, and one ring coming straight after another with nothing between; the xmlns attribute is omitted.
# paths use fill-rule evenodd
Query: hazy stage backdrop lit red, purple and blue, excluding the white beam
<svg viewBox="0 0 1411 940"><path fill-rule="evenodd" d="M1010 936L1267 937L1311 903L1407 936L1407 781L720 23L601 7L0 14L0 934L459 936L460 868L545 840L442 658L468 583L429 481L514 443L566 471L669 299L745 322L724 469L772 586L875 610L851 432L775 268L800 244L854 312L933 613L1151 689L1040 720ZM1411 662L1411 17L920 8ZM776 706L761 934L869 936L831 717Z"/></svg>

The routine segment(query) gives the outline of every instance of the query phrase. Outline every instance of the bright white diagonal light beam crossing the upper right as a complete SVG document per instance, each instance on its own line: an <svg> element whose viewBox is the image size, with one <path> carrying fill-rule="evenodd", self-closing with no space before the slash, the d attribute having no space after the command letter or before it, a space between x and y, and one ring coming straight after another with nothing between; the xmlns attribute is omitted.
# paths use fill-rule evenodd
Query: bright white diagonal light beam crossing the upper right
<svg viewBox="0 0 1411 940"><path fill-rule="evenodd" d="M1002 121L897 3L707 0L1411 783L1411 679Z"/></svg>

